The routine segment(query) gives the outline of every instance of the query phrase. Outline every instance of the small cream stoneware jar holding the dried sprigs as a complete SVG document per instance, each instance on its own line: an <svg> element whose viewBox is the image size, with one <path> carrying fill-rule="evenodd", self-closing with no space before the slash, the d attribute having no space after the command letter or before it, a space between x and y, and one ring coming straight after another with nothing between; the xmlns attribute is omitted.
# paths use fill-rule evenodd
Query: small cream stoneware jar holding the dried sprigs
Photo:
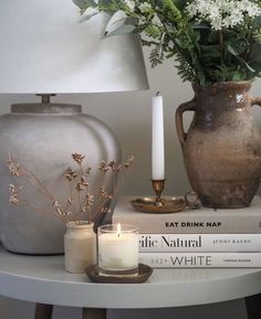
<svg viewBox="0 0 261 319"><path fill-rule="evenodd" d="M85 268L96 263L96 234L93 223L86 221L69 222L64 235L65 270L83 274Z"/></svg>

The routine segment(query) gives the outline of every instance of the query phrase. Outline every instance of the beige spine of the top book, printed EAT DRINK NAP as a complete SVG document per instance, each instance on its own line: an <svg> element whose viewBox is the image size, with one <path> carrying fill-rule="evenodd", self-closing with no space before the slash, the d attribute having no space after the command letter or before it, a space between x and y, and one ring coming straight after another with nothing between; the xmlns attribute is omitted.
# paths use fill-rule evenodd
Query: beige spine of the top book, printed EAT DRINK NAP
<svg viewBox="0 0 261 319"><path fill-rule="evenodd" d="M128 213L126 215L114 214L112 222L128 223L136 225L140 233L171 233L171 234L260 234L261 233L261 214L250 215L221 215L216 212L216 215L197 215L189 214L165 214L149 216L148 214Z"/></svg>

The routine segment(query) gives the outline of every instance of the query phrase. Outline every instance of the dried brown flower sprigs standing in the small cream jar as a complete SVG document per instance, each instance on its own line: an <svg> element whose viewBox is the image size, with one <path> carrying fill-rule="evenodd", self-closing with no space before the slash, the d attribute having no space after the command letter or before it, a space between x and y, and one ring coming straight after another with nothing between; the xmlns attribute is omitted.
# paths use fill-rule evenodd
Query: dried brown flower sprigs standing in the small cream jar
<svg viewBox="0 0 261 319"><path fill-rule="evenodd" d="M72 160L74 164L76 164L76 168L69 168L64 173L64 181L66 181L69 184L70 194L66 194L65 199L60 201L46 189L46 187L34 173L21 166L19 161L10 155L8 159L10 174L15 180L24 179L30 187L36 190L49 202L49 204L44 208L38 206L34 203L29 202L23 196L23 188L21 185L11 183L9 184L10 205L28 205L40 212L54 214L64 222L79 220L87 220L88 222L93 222L100 213L109 212L107 204L115 198L116 178L121 172L133 167L134 157L130 157L123 164L117 163L115 160L112 160L108 163L105 161L98 163L97 171L103 174L103 182L96 195L91 193L88 178L91 176L92 168L84 163L86 157L79 152L74 152L72 153ZM106 188L105 179L107 178L113 179L112 189Z"/></svg>

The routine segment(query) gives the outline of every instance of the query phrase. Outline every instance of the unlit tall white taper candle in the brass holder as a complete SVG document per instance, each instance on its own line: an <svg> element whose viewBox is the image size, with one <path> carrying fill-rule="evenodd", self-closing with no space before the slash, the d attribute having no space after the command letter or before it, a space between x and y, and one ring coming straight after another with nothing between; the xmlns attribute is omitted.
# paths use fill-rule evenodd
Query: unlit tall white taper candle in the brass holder
<svg viewBox="0 0 261 319"><path fill-rule="evenodd" d="M153 141L152 141L152 174L153 180L165 179L164 148L164 109L163 96L159 93L153 97Z"/></svg>

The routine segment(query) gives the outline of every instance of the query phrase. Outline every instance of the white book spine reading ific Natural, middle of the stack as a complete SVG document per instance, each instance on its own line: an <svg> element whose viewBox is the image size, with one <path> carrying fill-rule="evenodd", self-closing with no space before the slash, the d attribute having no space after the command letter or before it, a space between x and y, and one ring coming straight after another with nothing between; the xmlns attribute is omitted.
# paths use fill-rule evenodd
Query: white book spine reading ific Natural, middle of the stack
<svg viewBox="0 0 261 319"><path fill-rule="evenodd" d="M261 234L140 234L139 252L261 252Z"/></svg>

